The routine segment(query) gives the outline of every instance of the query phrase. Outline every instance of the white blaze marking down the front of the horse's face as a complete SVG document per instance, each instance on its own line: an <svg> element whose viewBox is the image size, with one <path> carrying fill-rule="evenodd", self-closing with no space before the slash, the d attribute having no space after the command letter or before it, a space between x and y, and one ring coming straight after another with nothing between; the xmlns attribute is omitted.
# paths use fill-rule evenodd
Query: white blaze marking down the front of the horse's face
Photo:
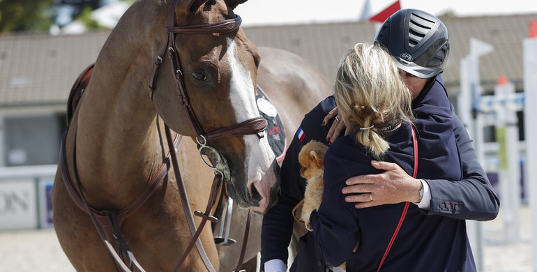
<svg viewBox="0 0 537 272"><path fill-rule="evenodd" d="M236 122L241 123L259 116L255 97L253 96L254 83L252 82L252 76L250 71L246 70L239 61L236 43L231 38L227 38L227 61L232 70L229 96L237 117ZM266 137L262 138L261 143L259 143L257 135L245 135L244 141L246 144L245 167L248 169L248 181L261 181L265 171L267 169L272 170L270 166L275 158L274 153ZM262 195L264 194L262 193Z"/></svg>

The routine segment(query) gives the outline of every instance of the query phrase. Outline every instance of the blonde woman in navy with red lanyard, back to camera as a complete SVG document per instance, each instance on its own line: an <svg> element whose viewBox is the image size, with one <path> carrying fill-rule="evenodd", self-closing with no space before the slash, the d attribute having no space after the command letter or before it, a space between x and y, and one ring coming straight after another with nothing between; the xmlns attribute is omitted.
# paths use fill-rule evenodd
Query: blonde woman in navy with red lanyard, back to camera
<svg viewBox="0 0 537 272"><path fill-rule="evenodd" d="M341 192L347 179L381 172L371 160L396 163L408 174L413 172L414 117L411 92L383 47L358 43L343 56L336 77L335 102L348 133L326 153L322 204L310 216L326 262L332 266L347 262L347 271L377 271L380 265L381 271L476 271L464 220L427 216L414 204L356 209L354 203L345 202ZM444 114L450 112L447 96L435 95L430 102L436 111L419 119L420 128L434 128L418 133L418 179L460 180L456 146L446 144L455 141L451 115ZM363 193L362 198L375 202L372 193ZM417 195L406 198L421 202ZM391 242L405 206L406 217Z"/></svg>

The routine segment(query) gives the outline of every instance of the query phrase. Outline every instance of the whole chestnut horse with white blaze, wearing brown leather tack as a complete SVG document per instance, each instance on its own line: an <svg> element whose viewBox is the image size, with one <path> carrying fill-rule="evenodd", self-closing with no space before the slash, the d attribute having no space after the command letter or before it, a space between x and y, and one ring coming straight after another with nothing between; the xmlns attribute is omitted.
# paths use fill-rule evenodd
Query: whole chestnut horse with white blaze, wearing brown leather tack
<svg viewBox="0 0 537 272"><path fill-rule="evenodd" d="M103 45L64 135L52 191L56 234L77 271L206 271L211 265L232 271L248 209L262 214L277 201L278 165L263 137L255 86L278 108L288 143L331 87L294 54L258 51L233 13L245 1L139 0ZM177 160L172 152L181 173L167 159L174 148L168 127L192 139L179 142ZM206 167L201 153L212 156L209 165L221 160L223 166ZM177 190L181 177L188 199ZM238 241L216 245L211 227L200 228L208 266L188 248L191 215L181 200L205 211L220 178L225 186L218 188L236 204L230 236ZM260 248L257 214L247 261ZM108 221L98 227L97 216ZM201 222L195 217L195 225ZM117 255L112 237L103 236L107 228L122 249Z"/></svg>

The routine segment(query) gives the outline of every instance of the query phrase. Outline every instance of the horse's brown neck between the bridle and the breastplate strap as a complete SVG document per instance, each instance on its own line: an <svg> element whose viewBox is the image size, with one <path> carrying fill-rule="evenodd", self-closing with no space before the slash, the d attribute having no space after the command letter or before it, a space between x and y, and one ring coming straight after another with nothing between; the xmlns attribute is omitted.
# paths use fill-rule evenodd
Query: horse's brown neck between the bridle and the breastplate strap
<svg viewBox="0 0 537 272"><path fill-rule="evenodd" d="M84 190L93 196L89 202L91 198L95 203L121 199L105 204L113 206L132 201L128 196L138 195L162 163L157 112L144 82L149 77L151 59L137 51L137 41L128 40L136 36L129 32L136 31L135 27L118 27L96 61L77 124L77 169ZM142 36L137 39L150 40Z"/></svg>

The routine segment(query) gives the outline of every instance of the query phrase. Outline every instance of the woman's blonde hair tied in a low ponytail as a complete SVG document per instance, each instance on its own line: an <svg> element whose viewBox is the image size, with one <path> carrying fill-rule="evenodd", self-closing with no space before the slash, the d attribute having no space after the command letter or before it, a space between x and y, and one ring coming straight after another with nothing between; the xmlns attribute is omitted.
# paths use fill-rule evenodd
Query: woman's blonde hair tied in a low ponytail
<svg viewBox="0 0 537 272"><path fill-rule="evenodd" d="M375 158L389 148L380 133L411 123L411 93L391 56L379 45L358 43L347 51L335 79L335 103L347 128Z"/></svg>

